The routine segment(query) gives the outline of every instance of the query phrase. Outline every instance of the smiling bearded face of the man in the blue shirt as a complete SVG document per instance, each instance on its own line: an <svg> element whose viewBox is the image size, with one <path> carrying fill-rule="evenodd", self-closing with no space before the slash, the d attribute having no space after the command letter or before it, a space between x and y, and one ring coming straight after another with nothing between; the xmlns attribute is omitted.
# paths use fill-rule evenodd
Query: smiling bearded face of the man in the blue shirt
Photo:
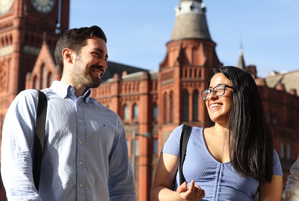
<svg viewBox="0 0 299 201"><path fill-rule="evenodd" d="M107 68L107 46L103 39L96 36L87 39L87 45L74 59L72 80L77 86L97 88Z"/></svg>

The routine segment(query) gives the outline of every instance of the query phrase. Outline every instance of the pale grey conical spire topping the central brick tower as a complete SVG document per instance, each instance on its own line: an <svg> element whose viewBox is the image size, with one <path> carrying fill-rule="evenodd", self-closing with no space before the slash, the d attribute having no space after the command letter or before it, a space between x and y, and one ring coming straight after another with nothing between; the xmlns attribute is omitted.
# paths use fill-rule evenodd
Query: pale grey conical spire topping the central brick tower
<svg viewBox="0 0 299 201"><path fill-rule="evenodd" d="M175 8L176 19L171 40L198 38L212 41L205 11L201 0L180 0Z"/></svg>

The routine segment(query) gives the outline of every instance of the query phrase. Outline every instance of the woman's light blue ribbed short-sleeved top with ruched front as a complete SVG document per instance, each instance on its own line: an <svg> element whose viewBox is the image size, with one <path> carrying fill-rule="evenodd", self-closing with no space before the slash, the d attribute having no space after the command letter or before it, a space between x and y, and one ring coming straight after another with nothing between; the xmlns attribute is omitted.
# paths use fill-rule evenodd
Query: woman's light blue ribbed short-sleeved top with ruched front
<svg viewBox="0 0 299 201"><path fill-rule="evenodd" d="M190 185L191 180L204 190L202 201L242 200L252 201L260 186L256 178L241 177L231 162L220 163L209 152L203 138L203 127L193 127L187 144L182 172ZM179 142L182 125L177 127L166 141L162 153L179 156ZM274 150L273 174L283 175L278 154ZM179 173L176 175L176 188L179 186Z"/></svg>

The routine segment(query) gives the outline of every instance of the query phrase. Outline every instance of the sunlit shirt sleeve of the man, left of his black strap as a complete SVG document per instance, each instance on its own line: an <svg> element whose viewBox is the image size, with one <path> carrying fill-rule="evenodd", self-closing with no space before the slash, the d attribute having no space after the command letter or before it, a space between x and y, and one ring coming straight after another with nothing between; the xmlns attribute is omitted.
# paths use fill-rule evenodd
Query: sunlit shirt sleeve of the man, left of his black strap
<svg viewBox="0 0 299 201"><path fill-rule="evenodd" d="M2 134L1 174L8 200L41 200L33 182L32 150L37 90L20 92L10 105Z"/></svg>

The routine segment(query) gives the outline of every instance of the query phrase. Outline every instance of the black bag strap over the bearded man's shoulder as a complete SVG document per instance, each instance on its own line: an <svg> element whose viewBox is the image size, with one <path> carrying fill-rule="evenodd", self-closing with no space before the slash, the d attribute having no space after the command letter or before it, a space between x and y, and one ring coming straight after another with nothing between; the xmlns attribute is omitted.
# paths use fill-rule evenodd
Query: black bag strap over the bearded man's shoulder
<svg viewBox="0 0 299 201"><path fill-rule="evenodd" d="M36 117L36 131L34 137L34 160L33 160L33 180L36 190L39 188L39 177L42 160L42 150L45 132L45 118L47 117L47 97L45 94L38 90L38 105Z"/></svg>

